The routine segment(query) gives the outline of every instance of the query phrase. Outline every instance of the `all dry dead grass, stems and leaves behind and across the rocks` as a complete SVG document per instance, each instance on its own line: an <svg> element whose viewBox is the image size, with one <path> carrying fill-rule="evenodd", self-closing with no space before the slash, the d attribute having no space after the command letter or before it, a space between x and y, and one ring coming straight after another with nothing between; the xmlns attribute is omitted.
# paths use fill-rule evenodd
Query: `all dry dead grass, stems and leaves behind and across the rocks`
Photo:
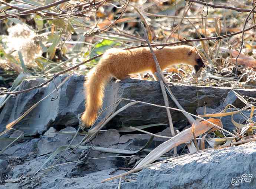
<svg viewBox="0 0 256 189"><path fill-rule="evenodd" d="M225 86L233 89L256 87L256 35L254 29L256 28L254 15L256 5L255 3L252 4L251 1L236 1L236 7L230 7L229 1L206 3L206 1L198 0L60 0L56 2L0 0L0 3L0 10L2 10L0 24L3 26L0 30L0 82L1 86L6 87L0 93L2 95L0 99L1 107L4 106L9 95L42 87L52 82L60 74L80 73L86 75L88 70L96 65L98 58L106 49L111 47L138 48L147 46L147 41L152 45L152 48L164 48L168 45L179 44L193 45L200 50L200 54L207 64L207 68L197 78L194 77L193 68L189 66L175 66L164 71L164 77L161 81L163 83L160 82L162 91L165 93L166 90L167 95L174 102L175 97L168 89L165 79L167 82L179 82L196 86ZM144 37L145 33L143 34L146 30L142 30L141 22L144 23L147 30L148 36L146 38ZM159 75L162 74L159 73ZM40 86L25 91L17 91L22 80L41 77L48 80ZM16 78L15 81L14 78ZM143 75L142 79L152 78L149 75ZM63 83L56 86L56 90ZM8 92L6 92L7 90ZM163 145L151 151L144 159L134 161L132 163L134 169L126 174L154 165L155 163L151 163L155 160L161 160L163 157L173 157L170 155L166 157L164 154L183 143L186 143L190 153L177 154L177 151L174 150L172 154L175 156L174 158L184 157L197 151L224 148L255 141L256 125L253 121L253 117L255 117L255 99L241 96L236 92L234 94L244 103L243 109L236 109L232 104L228 104L220 113L201 116L186 112L176 100L175 104L179 109L175 110L186 115L191 128L175 135L173 127L171 127L171 115L168 115L173 136L170 136L170 140ZM165 99L167 99L167 95L164 95ZM27 113L33 111L38 103L43 103L44 99L36 102L26 113L8 124L6 131L1 135L14 130L15 124L22 120ZM47 171L63 165L44 168L50 159L58 154L60 154L59 157L62 157L68 149L74 151L79 148L89 152L91 149L128 154L127 156L132 158L134 154L147 148L148 145L145 145L139 151L131 151L83 145L97 137L98 132L116 114L136 103L145 103L132 99L120 99L112 106L117 107L121 100L127 100L129 103L121 109L113 111L104 120L93 126L85 133L85 137L79 145L72 145L72 140L70 145L59 147L37 172ZM169 109L174 109L168 107L168 104L165 104L165 106L149 105L162 107L167 109L167 112ZM231 112L226 112L227 109ZM246 109L251 110L250 117L246 117L242 113ZM232 117L232 123L236 130L231 133L222 128L220 119L223 116L233 116L233 114L241 114L246 123L236 123ZM193 117L196 117L197 120ZM210 119L205 120L204 117L210 117ZM148 126L126 129L147 132L143 131L146 127ZM220 129L220 132L216 132L216 129ZM74 138L78 134L80 133L76 132ZM26 133L21 133L20 137L24 135ZM152 136L154 135L152 134ZM207 145L205 141L207 141ZM69 154L71 152L69 151ZM65 158L67 158L67 155ZM74 163L78 162L79 160Z"/></svg>

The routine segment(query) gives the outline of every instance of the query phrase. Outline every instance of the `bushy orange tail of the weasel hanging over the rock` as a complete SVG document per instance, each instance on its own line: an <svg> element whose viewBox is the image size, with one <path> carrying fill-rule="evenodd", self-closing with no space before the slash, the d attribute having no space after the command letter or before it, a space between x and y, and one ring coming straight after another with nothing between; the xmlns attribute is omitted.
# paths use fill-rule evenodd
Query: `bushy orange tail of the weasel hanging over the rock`
<svg viewBox="0 0 256 189"><path fill-rule="evenodd" d="M98 110L102 106L105 85L111 77L107 66L108 65L104 65L104 63L100 61L99 65L88 73L87 81L84 84L86 88L86 109L81 119L87 126L93 124L97 117Z"/></svg>

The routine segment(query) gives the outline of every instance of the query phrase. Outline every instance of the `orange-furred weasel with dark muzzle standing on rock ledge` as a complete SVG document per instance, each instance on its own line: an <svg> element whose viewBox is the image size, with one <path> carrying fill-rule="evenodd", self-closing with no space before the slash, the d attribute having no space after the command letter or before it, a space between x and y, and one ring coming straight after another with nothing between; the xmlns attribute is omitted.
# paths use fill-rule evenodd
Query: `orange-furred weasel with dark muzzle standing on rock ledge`
<svg viewBox="0 0 256 189"><path fill-rule="evenodd" d="M204 67L203 59L195 47L180 45L155 49L155 55L162 70L170 65L184 63L194 66L197 72ZM123 50L118 48L108 49L99 63L88 73L84 84L86 89L85 111L82 114L82 122L90 127L95 121L98 110L102 106L105 84L114 76L123 80L132 73L150 71L157 80L155 62L148 47Z"/></svg>

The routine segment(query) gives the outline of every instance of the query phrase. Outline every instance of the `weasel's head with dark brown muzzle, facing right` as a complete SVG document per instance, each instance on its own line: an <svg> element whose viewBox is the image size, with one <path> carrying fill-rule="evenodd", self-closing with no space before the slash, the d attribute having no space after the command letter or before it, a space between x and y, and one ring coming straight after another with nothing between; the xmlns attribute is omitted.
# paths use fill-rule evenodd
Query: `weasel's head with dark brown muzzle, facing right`
<svg viewBox="0 0 256 189"><path fill-rule="evenodd" d="M196 73L200 70L200 68L205 67L204 61L196 47L191 47L191 49L187 52L187 58L187 63L194 66Z"/></svg>

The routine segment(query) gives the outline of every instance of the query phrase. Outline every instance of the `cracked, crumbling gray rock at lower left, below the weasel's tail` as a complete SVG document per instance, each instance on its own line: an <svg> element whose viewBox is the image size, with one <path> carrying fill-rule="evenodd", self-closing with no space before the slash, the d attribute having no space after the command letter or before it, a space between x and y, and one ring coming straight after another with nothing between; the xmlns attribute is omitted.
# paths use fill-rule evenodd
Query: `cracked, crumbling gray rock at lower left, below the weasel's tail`
<svg viewBox="0 0 256 189"><path fill-rule="evenodd" d="M0 189L4 189L6 187L22 189L114 189L117 187L117 184L119 182L118 180L104 184L101 184L101 181L111 176L124 173L125 171L119 170L118 167L124 167L125 159L114 157L120 154L102 153L95 150L92 150L91 152L87 151L89 152L89 158L87 161L82 162L82 164L78 165L77 162L73 162L72 164L62 165L51 169L43 175L34 175L36 171L38 171L38 169L43 165L43 163L50 157L52 152L54 152L57 148L63 145L67 145L72 140L72 134L55 134L55 131L56 130L51 127L43 136L40 136L40 138L27 138L26 140L23 139L12 147L7 148L7 150L0 155L0 175L2 175L0 177L0 183L1 181L5 181L4 185L0 185ZM72 132L75 131L75 128L67 127L61 131ZM167 135L170 134L170 132L163 131L157 134ZM107 138L106 136L113 136L113 138ZM123 135L123 137L125 137L125 135ZM78 136L76 140L74 140L72 145L78 144L78 142L80 142L82 138L83 136ZM148 134L144 134L142 138L149 139L150 137ZM96 141L92 141L92 143L94 143L95 145L102 145L103 147L131 150L131 148L135 147L134 143L136 143L138 146L138 143L141 142L140 139L138 139L136 142L135 138L127 140L127 142L123 141L122 144L119 143L119 141L120 135L118 131L114 129L109 129L105 133L100 133L96 138ZM145 140L145 142L146 141L147 140ZM155 139L155 142L157 141L158 140ZM143 143L142 145L144 144L145 143ZM2 147L0 147L0 150L2 150ZM61 158L61 161L59 163L77 161L81 152L82 150L76 150L71 154L71 156L66 158L67 161ZM58 157L50 159L50 161L47 163L46 166L44 166L44 168L53 165L57 158ZM19 181L13 181L15 179ZM122 186L124 187L125 185L127 185L127 187L130 187L133 184L122 184ZM135 184L135 186L136 185L137 184Z"/></svg>

